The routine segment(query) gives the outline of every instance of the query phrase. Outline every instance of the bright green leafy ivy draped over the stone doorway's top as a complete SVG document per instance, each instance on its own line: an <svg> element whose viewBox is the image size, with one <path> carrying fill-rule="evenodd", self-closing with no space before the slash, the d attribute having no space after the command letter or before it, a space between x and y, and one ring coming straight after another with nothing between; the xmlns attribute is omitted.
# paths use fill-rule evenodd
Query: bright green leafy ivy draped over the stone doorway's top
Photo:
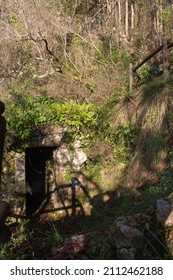
<svg viewBox="0 0 173 280"><path fill-rule="evenodd" d="M32 98L23 95L7 108L7 122L19 142L27 141L34 128L53 123L66 126L71 137L79 138L94 129L96 116L94 105L78 104L74 101L61 103L59 100L41 96Z"/></svg>

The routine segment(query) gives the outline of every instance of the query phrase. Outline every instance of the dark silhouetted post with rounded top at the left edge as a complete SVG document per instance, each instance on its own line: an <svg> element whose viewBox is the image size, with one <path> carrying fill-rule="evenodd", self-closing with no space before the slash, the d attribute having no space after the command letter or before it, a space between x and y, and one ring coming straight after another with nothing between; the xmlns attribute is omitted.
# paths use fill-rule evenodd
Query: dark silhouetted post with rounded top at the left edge
<svg viewBox="0 0 173 280"><path fill-rule="evenodd" d="M1 188L1 173L2 173L2 159L3 159L3 148L4 148L4 138L6 132L6 120L2 116L5 110L5 105L0 101L0 188Z"/></svg>

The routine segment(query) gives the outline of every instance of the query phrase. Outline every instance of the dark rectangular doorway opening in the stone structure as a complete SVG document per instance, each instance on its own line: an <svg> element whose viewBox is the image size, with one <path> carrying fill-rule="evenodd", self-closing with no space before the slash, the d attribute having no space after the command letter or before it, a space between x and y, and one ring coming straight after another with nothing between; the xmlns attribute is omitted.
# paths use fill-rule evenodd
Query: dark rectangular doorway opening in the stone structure
<svg viewBox="0 0 173 280"><path fill-rule="evenodd" d="M46 162L52 159L55 147L34 147L25 150L26 215L40 209L48 196Z"/></svg>

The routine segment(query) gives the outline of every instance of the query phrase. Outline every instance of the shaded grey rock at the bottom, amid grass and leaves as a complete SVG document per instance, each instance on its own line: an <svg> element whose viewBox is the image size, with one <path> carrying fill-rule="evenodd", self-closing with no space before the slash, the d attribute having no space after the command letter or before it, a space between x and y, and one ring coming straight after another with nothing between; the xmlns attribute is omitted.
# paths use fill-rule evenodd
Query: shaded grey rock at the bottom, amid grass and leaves
<svg viewBox="0 0 173 280"><path fill-rule="evenodd" d="M144 236L137 228L130 226L127 218L118 218L111 229L111 240L121 259L139 259L142 257Z"/></svg>

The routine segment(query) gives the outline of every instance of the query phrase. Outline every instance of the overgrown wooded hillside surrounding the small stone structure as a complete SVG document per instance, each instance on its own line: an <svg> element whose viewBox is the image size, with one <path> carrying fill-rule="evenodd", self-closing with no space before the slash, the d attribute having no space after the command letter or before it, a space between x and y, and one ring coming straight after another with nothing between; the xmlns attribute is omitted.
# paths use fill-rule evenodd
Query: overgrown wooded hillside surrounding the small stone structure
<svg viewBox="0 0 173 280"><path fill-rule="evenodd" d="M87 156L64 179L82 178L80 209L11 211L0 259L172 259L173 1L0 0L0 33L2 193L39 127Z"/></svg>

